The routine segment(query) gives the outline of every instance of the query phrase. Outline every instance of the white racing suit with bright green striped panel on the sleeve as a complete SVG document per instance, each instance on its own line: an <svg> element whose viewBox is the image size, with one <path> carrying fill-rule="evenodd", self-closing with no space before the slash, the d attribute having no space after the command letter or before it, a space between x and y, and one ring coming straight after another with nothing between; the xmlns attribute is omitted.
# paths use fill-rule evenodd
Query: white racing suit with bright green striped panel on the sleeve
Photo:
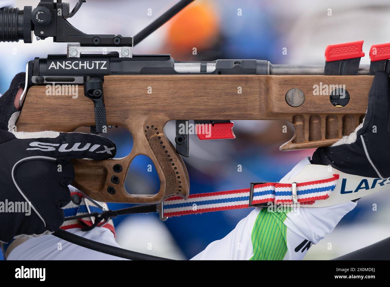
<svg viewBox="0 0 390 287"><path fill-rule="evenodd" d="M298 163L283 179L289 179L310 164L308 158ZM268 212L255 208L224 238L211 242L194 260L300 260L310 246L332 232L340 219L356 206L347 201L330 207L301 207L285 212ZM64 207L66 208L66 207ZM199 216L199 215L189 215ZM174 220L171 219L171 220ZM97 242L118 246L108 228L96 227L83 232L68 229L74 234ZM61 245L61 248L57 247ZM8 255L9 260L116 260L121 259L89 250L44 235L28 239Z"/></svg>

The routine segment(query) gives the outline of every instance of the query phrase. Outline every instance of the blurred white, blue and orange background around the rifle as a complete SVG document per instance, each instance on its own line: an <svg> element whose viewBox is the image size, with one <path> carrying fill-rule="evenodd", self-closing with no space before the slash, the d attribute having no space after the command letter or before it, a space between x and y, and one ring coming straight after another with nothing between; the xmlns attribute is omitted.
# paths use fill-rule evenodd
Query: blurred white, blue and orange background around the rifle
<svg viewBox="0 0 390 287"><path fill-rule="evenodd" d="M39 1L17 0L17 6ZM70 0L72 5L76 0ZM70 22L85 33L134 36L177 0L87 1ZM241 14L240 14L241 12ZM387 1L309 0L197 0L135 47L134 53L170 53L180 61L265 59L273 64L323 64L326 45L364 39L369 63L372 44L387 43L390 4ZM193 48L197 55L193 55ZM287 53L283 53L287 51ZM25 70L28 60L48 53L66 53L66 44L51 39L33 44L0 44L0 93L12 77ZM269 95L272 96L272 95ZM245 111L243 111L245 112ZM234 119L231 119L234 121ZM280 152L293 137L291 124L281 121L234 121L234 140L190 139L190 157L184 159L190 175L190 193L246 188L253 181L278 181L313 150ZM282 132L284 125L287 132ZM174 139L174 123L165 133ZM131 151L127 130L113 128L108 137L119 146L118 157ZM156 193L158 176L152 162L137 157L129 169L126 189ZM238 171L238 167L242 171ZM390 236L389 196L374 194L359 201L335 231L308 252L308 259L330 259ZM373 210L373 205L377 209ZM125 204L109 204L111 209ZM130 250L188 259L228 234L251 210L213 212L176 217L122 216L114 219L118 243ZM152 249L147 247L152 243ZM329 244L331 243L331 248Z"/></svg>

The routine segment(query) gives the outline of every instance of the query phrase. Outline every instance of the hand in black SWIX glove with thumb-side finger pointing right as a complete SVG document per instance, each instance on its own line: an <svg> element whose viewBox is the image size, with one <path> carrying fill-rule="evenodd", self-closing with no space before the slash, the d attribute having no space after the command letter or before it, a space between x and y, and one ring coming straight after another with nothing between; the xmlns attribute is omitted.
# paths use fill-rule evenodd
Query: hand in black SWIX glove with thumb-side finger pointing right
<svg viewBox="0 0 390 287"><path fill-rule="evenodd" d="M70 159L101 160L116 153L115 144L98 135L12 130L20 114L14 100L24 85L25 73L20 73L0 97L2 242L58 230L64 222L62 207L71 200L67 186L74 180L74 169Z"/></svg>

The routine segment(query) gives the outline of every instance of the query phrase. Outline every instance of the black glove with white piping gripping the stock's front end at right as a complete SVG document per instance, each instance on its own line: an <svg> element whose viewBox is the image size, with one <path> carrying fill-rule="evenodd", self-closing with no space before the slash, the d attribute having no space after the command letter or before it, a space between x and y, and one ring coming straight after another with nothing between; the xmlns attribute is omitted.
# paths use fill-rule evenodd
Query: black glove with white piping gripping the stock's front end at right
<svg viewBox="0 0 390 287"><path fill-rule="evenodd" d="M333 146L317 148L313 164L331 165L352 175L390 177L389 75L376 73L363 124Z"/></svg>

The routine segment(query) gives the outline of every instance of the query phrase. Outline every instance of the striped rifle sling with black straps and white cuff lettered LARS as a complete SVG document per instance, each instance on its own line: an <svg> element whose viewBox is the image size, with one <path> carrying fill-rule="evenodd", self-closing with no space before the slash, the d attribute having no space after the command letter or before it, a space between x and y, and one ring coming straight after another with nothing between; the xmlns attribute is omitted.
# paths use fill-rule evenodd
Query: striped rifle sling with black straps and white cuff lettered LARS
<svg viewBox="0 0 390 287"><path fill-rule="evenodd" d="M304 207L326 207L356 200L383 190L387 180L349 175L336 169L330 171L328 166L308 164L297 175L283 183L253 182L250 188L247 189L191 194L188 200L173 197L159 205L141 205L119 210L106 210L103 213L82 214L66 217L65 221L93 216L95 217L95 223L93 226L83 229L87 231L103 220L124 214L159 212L160 218L164 220L168 217L186 214L264 207L270 203L292 207L299 205ZM166 259L91 241L65 230L58 230L53 235L85 248L126 259Z"/></svg>

